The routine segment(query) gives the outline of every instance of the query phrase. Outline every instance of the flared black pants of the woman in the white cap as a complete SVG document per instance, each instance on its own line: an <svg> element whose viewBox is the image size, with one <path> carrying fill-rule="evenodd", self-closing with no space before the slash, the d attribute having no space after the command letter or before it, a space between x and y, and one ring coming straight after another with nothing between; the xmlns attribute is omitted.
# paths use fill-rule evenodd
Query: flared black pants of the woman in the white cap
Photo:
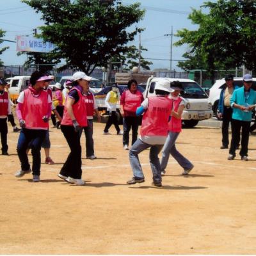
<svg viewBox="0 0 256 256"><path fill-rule="evenodd" d="M81 179L82 177L82 148L80 144L81 133L75 132L73 126L61 125L61 132L67 140L68 146L71 150L68 158L60 170L60 174L73 179Z"/></svg>

